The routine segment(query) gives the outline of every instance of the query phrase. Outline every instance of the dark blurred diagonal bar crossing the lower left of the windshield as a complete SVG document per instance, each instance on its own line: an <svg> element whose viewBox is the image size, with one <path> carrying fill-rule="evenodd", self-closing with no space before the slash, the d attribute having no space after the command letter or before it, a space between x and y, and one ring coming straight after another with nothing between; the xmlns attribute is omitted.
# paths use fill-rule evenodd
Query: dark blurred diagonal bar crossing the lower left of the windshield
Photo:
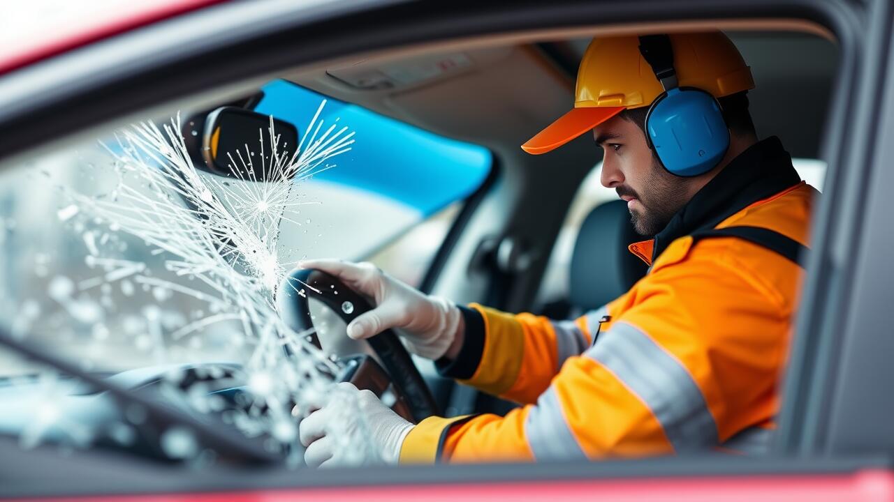
<svg viewBox="0 0 894 502"><path fill-rule="evenodd" d="M142 406L146 410L148 420L154 423L175 423L189 429L195 434L201 444L215 450L223 457L230 458L248 464L276 464L283 462L283 456L266 450L260 439L249 439L240 431L233 429L223 422L216 424L204 423L177 409L160 405L138 392L122 387L112 381L84 372L77 365L65 361L61 357L54 356L20 339L16 339L6 329L0 328L0 346L8 347L21 356L25 356L40 364L46 364L59 372L68 374L93 388L107 392L109 396L118 401L119 406ZM210 415L209 415L210 418ZM224 431L224 429L229 431Z"/></svg>

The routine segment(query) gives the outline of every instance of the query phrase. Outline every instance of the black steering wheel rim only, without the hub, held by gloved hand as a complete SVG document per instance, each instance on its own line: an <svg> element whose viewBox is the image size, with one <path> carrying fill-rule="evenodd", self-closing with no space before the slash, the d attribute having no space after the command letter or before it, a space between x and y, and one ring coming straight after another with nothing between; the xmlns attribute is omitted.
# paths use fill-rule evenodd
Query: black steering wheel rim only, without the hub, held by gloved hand
<svg viewBox="0 0 894 502"><path fill-rule="evenodd" d="M298 284L306 285L303 294L298 291L302 288L296 289L295 285ZM278 295L281 296L277 298L277 303L281 307L280 314L283 316L283 321L296 331L314 328L308 305L309 297L314 297L330 308L345 325L358 315L374 308L367 298L348 288L342 280L315 269L299 269L291 272ZM345 302L350 302L353 308L342 308ZM390 329L384 330L366 339L366 342L379 357L398 394L406 397L413 419L418 423L428 416L438 414L438 406L431 390L428 389L425 379L422 378L422 374L419 373L397 334Z"/></svg>

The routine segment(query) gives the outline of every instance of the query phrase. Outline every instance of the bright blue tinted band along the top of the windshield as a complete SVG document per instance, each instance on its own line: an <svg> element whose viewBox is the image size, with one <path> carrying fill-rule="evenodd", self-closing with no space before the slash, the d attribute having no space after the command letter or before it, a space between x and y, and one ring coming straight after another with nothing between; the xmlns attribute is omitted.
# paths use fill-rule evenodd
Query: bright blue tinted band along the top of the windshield
<svg viewBox="0 0 894 502"><path fill-rule="evenodd" d="M264 88L255 111L290 121L305 133L323 99L326 124L335 119L356 131L353 149L335 159L337 167L315 178L362 188L410 205L426 216L468 197L491 170L484 146L443 138L400 121L350 105L285 80Z"/></svg>

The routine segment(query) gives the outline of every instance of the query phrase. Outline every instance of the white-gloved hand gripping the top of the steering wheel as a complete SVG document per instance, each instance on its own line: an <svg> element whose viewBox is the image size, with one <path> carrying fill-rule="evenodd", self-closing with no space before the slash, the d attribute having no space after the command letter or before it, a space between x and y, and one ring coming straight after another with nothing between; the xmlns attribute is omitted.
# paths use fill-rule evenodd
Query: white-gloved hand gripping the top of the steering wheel
<svg viewBox="0 0 894 502"><path fill-rule="evenodd" d="M348 324L348 336L352 339L367 339L389 328L402 328L407 350L428 359L443 356L456 339L462 317L456 304L411 288L374 264L308 260L299 266L331 273L350 289L373 299L375 308Z"/></svg>

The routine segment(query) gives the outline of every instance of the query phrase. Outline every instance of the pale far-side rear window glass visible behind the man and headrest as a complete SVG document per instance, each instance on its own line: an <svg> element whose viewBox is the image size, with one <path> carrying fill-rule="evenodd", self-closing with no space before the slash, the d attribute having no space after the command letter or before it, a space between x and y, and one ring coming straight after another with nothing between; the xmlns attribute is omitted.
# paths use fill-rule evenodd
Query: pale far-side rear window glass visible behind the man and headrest
<svg viewBox="0 0 894 502"><path fill-rule="evenodd" d="M825 178L826 163L817 159L793 158L795 170L811 186L822 192L822 180ZM536 306L553 301L568 299L569 267L574 244L578 238L578 230L586 215L597 205L618 198L612 188L603 187L599 180L603 164L597 163L593 171L586 175L578 188L578 193L569 206L565 222L562 223L559 236L552 247L550 261L544 272L544 280L537 292ZM573 298L572 298L573 300Z"/></svg>

